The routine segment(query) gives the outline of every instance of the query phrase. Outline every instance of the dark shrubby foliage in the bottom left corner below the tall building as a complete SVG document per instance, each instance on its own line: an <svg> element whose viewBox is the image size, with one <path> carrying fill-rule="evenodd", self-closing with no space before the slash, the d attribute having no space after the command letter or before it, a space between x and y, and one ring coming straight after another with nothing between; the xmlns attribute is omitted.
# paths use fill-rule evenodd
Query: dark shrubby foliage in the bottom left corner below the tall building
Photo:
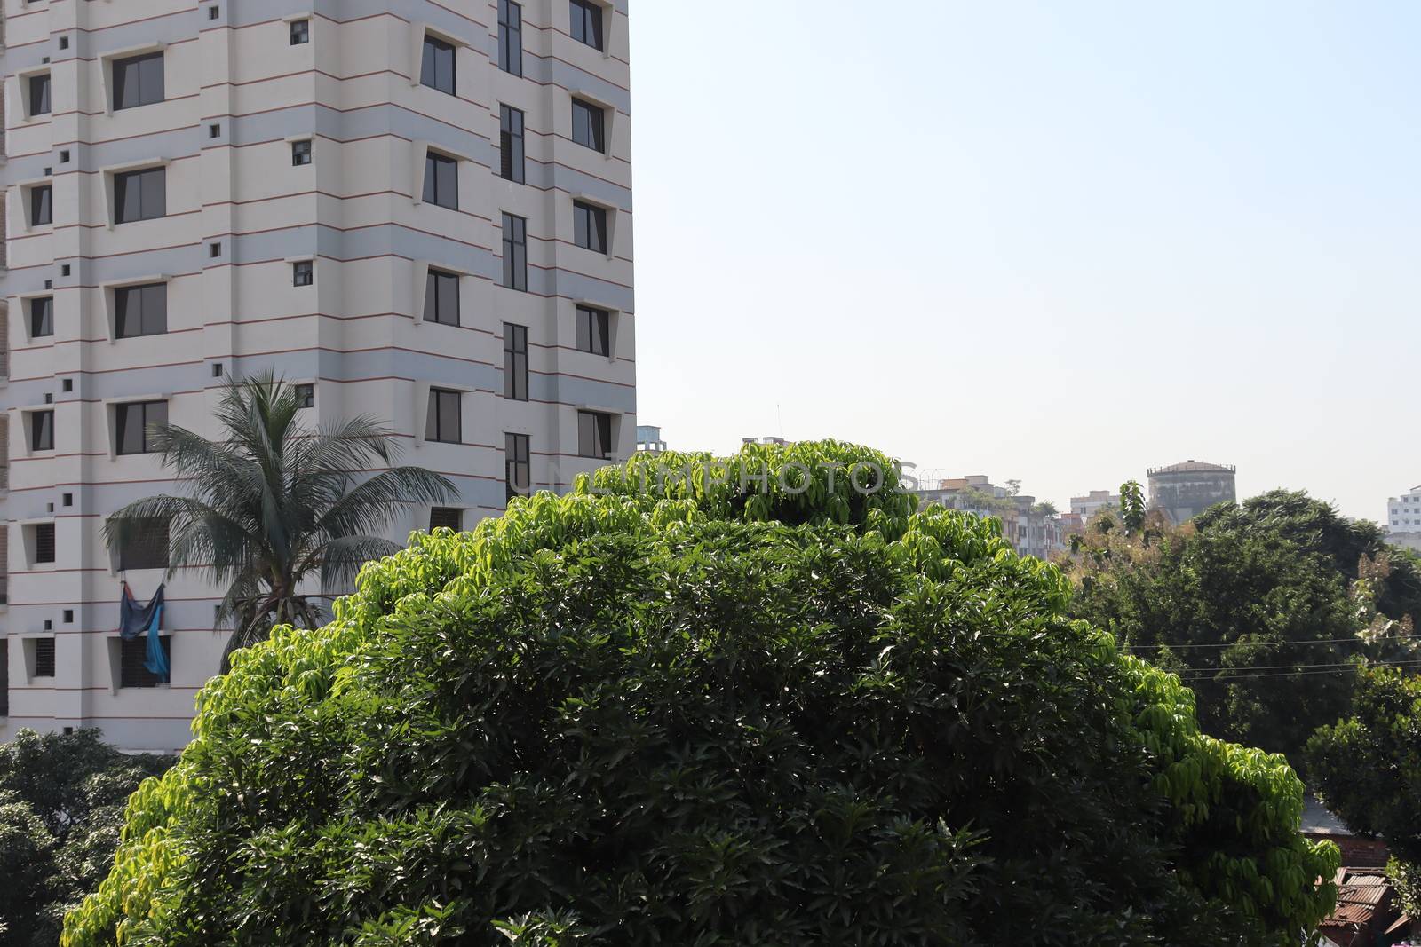
<svg viewBox="0 0 1421 947"><path fill-rule="evenodd" d="M0 744L0 944L60 943L65 912L114 865L128 797L172 762L121 754L97 730Z"/></svg>

